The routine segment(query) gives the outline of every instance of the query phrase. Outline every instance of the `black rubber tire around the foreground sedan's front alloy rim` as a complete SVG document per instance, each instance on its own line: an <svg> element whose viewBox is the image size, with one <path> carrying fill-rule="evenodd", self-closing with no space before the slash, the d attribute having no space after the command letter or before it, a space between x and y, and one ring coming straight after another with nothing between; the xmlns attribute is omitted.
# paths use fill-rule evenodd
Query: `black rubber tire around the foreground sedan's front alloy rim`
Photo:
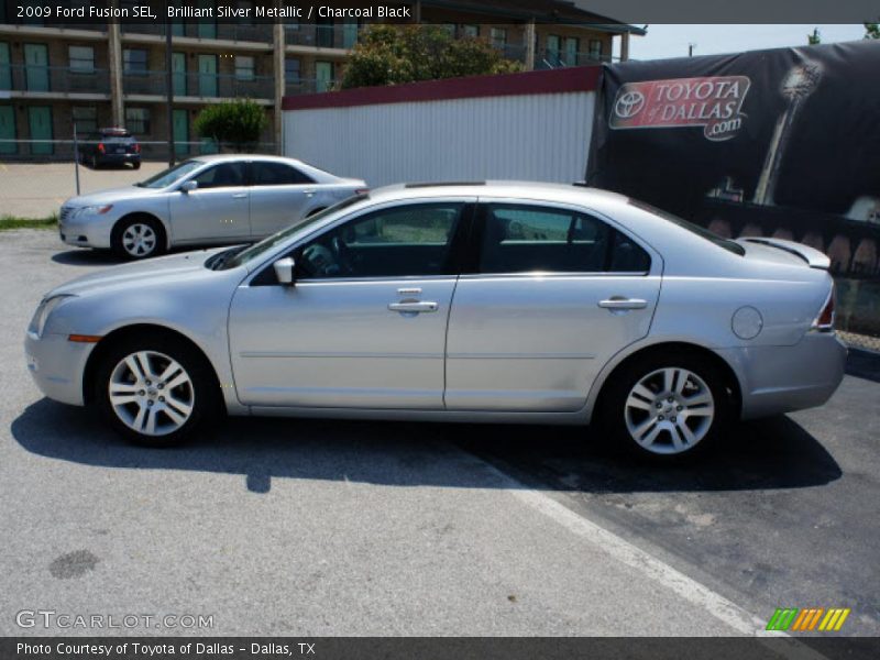
<svg viewBox="0 0 880 660"><path fill-rule="evenodd" d="M174 389L160 389L160 382L151 381L151 386L144 386L143 389L139 391L144 392L146 396L141 396L139 398L140 403L122 406L123 410L118 414L110 400L111 378L119 376L117 370L125 358L139 352L151 354L150 364L155 370L154 374L167 365L163 358L174 360L183 367L183 371L188 376L189 384L177 385ZM128 367L121 369L124 371ZM131 370L129 370L129 373L133 374ZM179 373L177 372L178 375ZM172 385L174 380L175 374L170 374L167 384ZM119 381L114 382L119 386ZM141 384L143 385L143 383ZM160 402L163 392L168 397L163 397L163 400ZM165 448L178 446L200 431L208 429L223 414L220 387L207 359L186 341L163 334L127 337L107 349L100 356L100 363L96 370L94 400L97 403L101 416L118 433L127 440L144 447ZM133 420L130 419L130 422L138 422L136 414L142 407L141 404L146 406L151 400L152 405L145 409L153 411L155 429L163 432L154 435L139 432L120 417L120 415L125 414L133 418ZM177 427L174 425L174 419L165 413L172 405L172 400L191 403L191 411L188 414L189 416L186 418L185 424ZM175 404L175 406L178 405L177 403ZM173 411L178 416L184 415L182 410L183 408L173 408ZM147 421L148 415L150 413L146 413L144 424ZM167 430L172 427L174 427L173 430ZM165 432L166 430L167 432Z"/></svg>

